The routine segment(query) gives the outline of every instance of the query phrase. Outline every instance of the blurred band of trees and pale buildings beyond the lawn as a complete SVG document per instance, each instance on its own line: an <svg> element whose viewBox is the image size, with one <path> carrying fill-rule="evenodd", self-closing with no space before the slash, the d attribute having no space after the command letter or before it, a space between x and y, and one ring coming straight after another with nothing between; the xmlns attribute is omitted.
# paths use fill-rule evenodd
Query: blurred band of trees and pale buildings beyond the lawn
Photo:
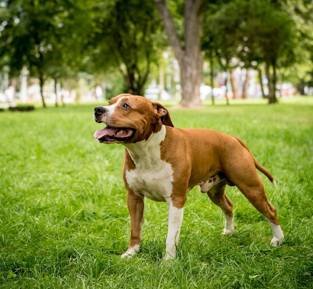
<svg viewBox="0 0 313 289"><path fill-rule="evenodd" d="M188 103L184 83L212 103L276 102L313 94L312 63L312 0L0 0L2 107L122 92Z"/></svg>

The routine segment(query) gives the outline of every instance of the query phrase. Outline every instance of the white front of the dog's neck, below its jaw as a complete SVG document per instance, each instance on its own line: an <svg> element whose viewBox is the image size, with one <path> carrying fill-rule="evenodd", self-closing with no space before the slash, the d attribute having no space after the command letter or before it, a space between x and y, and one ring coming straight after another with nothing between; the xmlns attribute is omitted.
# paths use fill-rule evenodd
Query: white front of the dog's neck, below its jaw
<svg viewBox="0 0 313 289"><path fill-rule="evenodd" d="M162 125L161 130L152 133L147 140L123 144L136 168L155 169L155 162L160 159L160 143L164 140L165 134L166 126Z"/></svg>

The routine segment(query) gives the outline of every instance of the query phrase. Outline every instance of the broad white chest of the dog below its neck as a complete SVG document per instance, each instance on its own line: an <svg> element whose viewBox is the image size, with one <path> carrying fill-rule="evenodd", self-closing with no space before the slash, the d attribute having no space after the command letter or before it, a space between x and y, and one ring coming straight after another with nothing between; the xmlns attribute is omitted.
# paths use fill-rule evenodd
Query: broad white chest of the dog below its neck
<svg viewBox="0 0 313 289"><path fill-rule="evenodd" d="M162 161L158 169L146 171L135 168L126 171L126 179L134 193L155 201L165 201L172 192L172 173L170 164Z"/></svg>

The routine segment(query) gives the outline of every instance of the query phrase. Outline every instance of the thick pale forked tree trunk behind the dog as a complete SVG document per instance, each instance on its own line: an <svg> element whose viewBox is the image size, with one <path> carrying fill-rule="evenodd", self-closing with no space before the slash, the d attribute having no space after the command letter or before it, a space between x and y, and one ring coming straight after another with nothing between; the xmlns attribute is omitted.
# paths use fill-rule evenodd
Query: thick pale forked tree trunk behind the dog
<svg viewBox="0 0 313 289"><path fill-rule="evenodd" d="M199 106L201 105L199 87L202 77L200 30L206 0L184 0L184 26L181 39L165 0L154 1L179 64L182 89L180 105Z"/></svg>

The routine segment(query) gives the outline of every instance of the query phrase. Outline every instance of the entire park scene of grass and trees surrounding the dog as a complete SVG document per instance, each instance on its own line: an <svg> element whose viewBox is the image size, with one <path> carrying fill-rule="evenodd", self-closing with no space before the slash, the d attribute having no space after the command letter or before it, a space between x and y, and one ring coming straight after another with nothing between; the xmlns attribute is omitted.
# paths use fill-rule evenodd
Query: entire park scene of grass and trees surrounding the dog
<svg viewBox="0 0 313 289"><path fill-rule="evenodd" d="M311 0L0 1L0 287L312 288L312 11ZM197 63L191 81L184 61ZM235 233L221 236L220 209L194 188L175 260L162 261L167 206L148 199L141 252L121 259L123 147L92 137L94 106L121 92L158 99L177 127L244 140L277 182L260 175L284 244L269 245L235 187Z"/></svg>

